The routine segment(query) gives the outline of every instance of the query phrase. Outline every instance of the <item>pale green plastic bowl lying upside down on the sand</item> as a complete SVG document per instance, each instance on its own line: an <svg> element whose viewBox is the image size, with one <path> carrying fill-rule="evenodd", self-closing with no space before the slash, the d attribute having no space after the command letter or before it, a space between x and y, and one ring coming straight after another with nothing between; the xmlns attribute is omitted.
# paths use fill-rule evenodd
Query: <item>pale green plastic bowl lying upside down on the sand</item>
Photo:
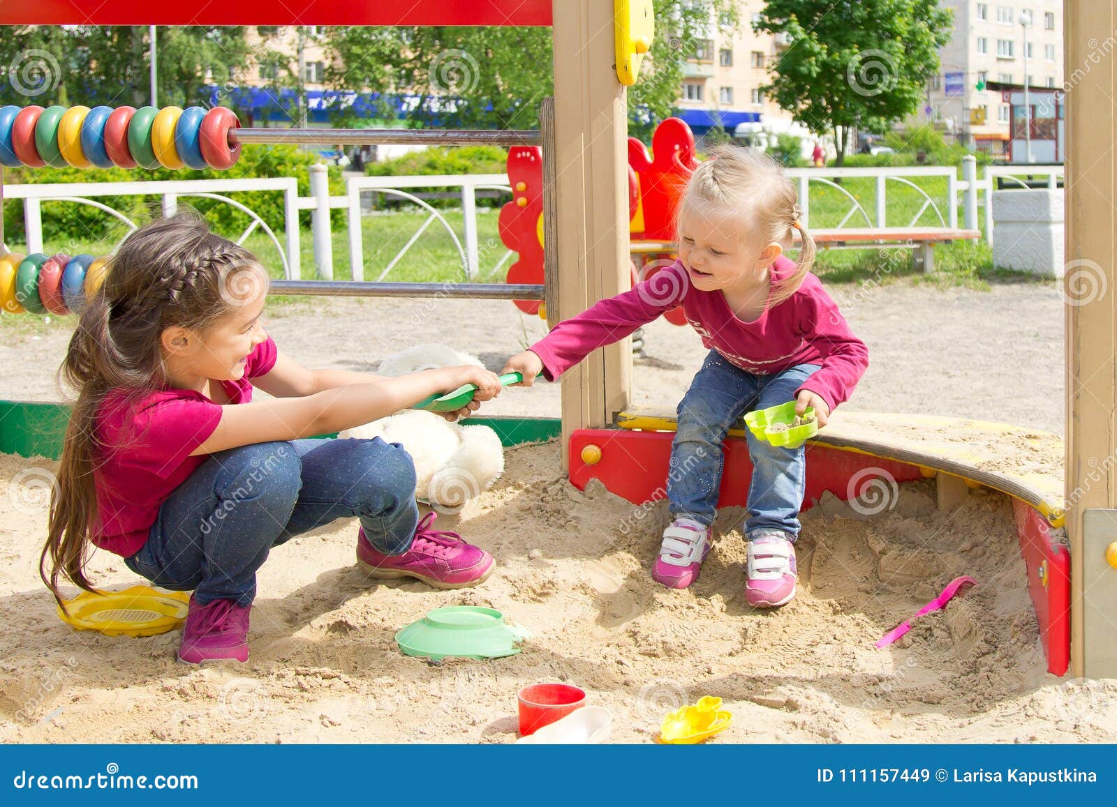
<svg viewBox="0 0 1117 807"><path fill-rule="evenodd" d="M499 659L515 655L513 646L522 634L504 623L504 614L474 605L435 608L395 634L404 655L439 661L460 659Z"/></svg>

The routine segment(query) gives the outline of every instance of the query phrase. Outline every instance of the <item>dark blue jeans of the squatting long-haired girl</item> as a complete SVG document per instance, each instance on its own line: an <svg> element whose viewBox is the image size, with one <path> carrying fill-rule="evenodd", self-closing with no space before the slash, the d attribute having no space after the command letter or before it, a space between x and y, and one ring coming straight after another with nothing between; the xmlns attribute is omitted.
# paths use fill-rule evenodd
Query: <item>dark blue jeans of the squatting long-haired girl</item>
<svg viewBox="0 0 1117 807"><path fill-rule="evenodd" d="M398 443L294 440L210 454L163 502L147 542L124 564L199 603L256 597L271 547L356 516L378 550L408 550L419 521L416 470Z"/></svg>

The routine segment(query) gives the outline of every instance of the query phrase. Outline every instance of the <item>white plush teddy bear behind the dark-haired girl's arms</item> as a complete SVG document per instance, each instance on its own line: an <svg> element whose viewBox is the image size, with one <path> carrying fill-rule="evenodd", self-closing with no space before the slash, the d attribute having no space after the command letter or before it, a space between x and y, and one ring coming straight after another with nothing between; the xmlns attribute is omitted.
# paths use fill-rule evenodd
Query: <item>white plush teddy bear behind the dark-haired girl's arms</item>
<svg viewBox="0 0 1117 807"><path fill-rule="evenodd" d="M442 345L417 345L384 358L378 372L399 376L462 364L484 366L476 356ZM450 423L433 412L404 410L341 436L381 438L403 445L416 465L416 498L440 510L460 510L504 473L504 448L495 431Z"/></svg>

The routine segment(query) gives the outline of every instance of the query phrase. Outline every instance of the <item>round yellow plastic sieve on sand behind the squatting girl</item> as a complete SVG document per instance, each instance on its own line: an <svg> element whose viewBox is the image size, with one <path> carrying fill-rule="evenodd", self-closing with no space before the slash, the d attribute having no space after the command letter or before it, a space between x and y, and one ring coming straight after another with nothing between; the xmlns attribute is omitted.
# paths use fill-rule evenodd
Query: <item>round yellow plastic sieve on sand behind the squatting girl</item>
<svg viewBox="0 0 1117 807"><path fill-rule="evenodd" d="M78 631L106 636L154 636L182 625L190 595L133 586L123 592L82 592L58 607L59 618Z"/></svg>

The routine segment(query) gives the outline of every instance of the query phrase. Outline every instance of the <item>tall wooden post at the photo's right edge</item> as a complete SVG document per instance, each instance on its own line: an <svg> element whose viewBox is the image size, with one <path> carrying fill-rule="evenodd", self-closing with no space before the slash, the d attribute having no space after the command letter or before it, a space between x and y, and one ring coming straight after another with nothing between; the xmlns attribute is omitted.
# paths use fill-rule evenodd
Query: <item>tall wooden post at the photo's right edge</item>
<svg viewBox="0 0 1117 807"><path fill-rule="evenodd" d="M1067 530L1071 559L1071 671L1117 675L1117 617L1087 607L1117 602L1117 570L1098 584L1105 557L1089 536L1117 497L1117 319L1114 233L1117 232L1114 132L1117 95L1111 0L1063 3L1067 87ZM1099 38L1108 36L1100 41ZM1088 548L1094 545L1094 551ZM1096 557L1097 556L1097 557ZM1089 588L1086 580L1091 580Z"/></svg>

